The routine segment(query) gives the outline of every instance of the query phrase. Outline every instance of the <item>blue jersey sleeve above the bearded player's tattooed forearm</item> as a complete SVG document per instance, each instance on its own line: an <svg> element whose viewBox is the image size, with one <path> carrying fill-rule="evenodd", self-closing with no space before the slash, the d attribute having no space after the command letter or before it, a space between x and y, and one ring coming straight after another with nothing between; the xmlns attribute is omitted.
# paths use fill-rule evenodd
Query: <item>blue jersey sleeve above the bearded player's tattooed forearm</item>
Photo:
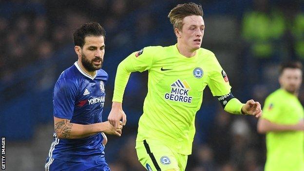
<svg viewBox="0 0 304 171"><path fill-rule="evenodd" d="M54 116L72 119L77 95L77 86L71 79L60 79L54 88Z"/></svg>

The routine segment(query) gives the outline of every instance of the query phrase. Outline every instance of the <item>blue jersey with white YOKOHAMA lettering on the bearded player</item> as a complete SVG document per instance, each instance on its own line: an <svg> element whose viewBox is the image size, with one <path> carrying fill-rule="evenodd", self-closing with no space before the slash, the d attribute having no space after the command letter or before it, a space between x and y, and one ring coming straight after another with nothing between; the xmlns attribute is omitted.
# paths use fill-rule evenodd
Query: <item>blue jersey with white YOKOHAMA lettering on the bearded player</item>
<svg viewBox="0 0 304 171"><path fill-rule="evenodd" d="M83 125L102 122L107 80L108 74L102 69L92 77L75 62L55 84L54 116ZM71 162L98 160L103 156L102 140L101 133L81 139L58 139L54 133L49 157Z"/></svg>

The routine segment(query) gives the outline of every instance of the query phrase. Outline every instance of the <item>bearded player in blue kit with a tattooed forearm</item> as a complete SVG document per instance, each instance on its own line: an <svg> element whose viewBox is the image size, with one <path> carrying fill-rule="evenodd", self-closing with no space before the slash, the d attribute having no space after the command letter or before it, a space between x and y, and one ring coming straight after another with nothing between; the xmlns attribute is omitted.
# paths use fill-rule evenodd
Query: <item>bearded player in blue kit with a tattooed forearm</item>
<svg viewBox="0 0 304 171"><path fill-rule="evenodd" d="M105 161L104 133L121 135L109 121L102 122L105 83L101 69L105 31L96 22L83 24L74 34L78 60L59 76L54 88L54 141L46 171L110 171Z"/></svg>

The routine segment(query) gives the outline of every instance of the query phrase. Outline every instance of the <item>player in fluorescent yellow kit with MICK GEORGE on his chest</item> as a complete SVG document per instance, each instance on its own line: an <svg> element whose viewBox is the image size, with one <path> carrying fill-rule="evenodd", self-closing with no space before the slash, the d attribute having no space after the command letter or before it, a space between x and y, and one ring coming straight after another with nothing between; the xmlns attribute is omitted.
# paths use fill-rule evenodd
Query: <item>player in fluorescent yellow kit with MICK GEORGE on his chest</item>
<svg viewBox="0 0 304 171"><path fill-rule="evenodd" d="M228 77L216 57L200 48L205 24L201 5L179 4L168 16L177 44L150 46L132 53L117 68L109 121L126 123L123 93L132 72L149 71L148 94L139 119L136 152L148 171L184 171L195 133L194 118L209 86L225 111L260 117L261 105L241 103L230 92Z"/></svg>

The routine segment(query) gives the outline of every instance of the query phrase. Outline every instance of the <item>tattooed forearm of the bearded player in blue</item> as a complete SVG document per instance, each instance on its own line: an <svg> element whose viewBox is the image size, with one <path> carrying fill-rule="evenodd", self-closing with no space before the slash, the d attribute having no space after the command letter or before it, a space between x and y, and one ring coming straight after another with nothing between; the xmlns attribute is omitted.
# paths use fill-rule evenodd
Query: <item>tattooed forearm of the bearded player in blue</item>
<svg viewBox="0 0 304 171"><path fill-rule="evenodd" d="M63 119L55 124L55 132L58 138L79 139L102 132L102 123L81 125Z"/></svg>

